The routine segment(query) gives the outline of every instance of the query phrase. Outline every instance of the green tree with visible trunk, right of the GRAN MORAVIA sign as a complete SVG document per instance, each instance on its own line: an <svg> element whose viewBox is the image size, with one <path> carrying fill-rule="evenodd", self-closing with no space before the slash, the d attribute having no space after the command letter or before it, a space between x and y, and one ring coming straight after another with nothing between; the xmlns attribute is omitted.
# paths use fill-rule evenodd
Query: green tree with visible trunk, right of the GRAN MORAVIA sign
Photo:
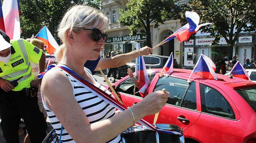
<svg viewBox="0 0 256 143"><path fill-rule="evenodd" d="M121 15L119 23L127 25L131 34L136 34L139 28L147 35L147 45L151 45L150 23L154 22L157 28L159 23L167 19L178 19L180 7L176 0L129 0L127 10L119 9Z"/></svg>

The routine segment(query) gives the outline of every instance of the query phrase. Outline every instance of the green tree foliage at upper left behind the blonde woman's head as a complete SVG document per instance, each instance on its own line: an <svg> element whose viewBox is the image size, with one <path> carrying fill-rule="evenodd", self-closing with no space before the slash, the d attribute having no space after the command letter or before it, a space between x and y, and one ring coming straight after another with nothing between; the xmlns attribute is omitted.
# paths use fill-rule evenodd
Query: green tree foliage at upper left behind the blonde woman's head
<svg viewBox="0 0 256 143"><path fill-rule="evenodd" d="M56 26L61 22L67 10L76 4L86 4L100 8L100 0L19 0L22 36L30 38L43 26L56 36Z"/></svg>

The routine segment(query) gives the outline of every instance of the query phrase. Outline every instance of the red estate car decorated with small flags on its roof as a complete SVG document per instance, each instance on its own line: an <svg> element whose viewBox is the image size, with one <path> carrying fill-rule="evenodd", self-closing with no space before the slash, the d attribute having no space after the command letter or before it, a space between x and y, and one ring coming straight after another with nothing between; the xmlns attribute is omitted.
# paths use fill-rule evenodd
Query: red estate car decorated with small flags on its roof
<svg viewBox="0 0 256 143"><path fill-rule="evenodd" d="M145 95L163 88L170 93L156 123L180 126L186 143L256 143L256 83L220 74L218 80L193 74L187 82L191 70L159 77L161 70L147 71ZM127 107L142 100L128 76L113 86ZM152 123L154 115L145 119Z"/></svg>

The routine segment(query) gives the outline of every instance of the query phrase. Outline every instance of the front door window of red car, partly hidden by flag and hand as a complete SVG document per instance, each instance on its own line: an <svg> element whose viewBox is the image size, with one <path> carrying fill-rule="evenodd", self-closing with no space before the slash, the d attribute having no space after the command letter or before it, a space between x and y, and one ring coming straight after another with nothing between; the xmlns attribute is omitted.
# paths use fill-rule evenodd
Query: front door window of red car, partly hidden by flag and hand
<svg viewBox="0 0 256 143"><path fill-rule="evenodd" d="M155 76L156 73L148 73L148 78L151 82L151 80L153 79L153 77ZM130 78L127 78L126 80L124 80L123 82L121 82L118 87L117 87L117 92L121 92L121 93L127 93L129 95L134 95L133 91L134 91L134 83L132 82L132 80ZM136 87L135 88L135 95L141 97L141 95L139 94L139 89Z"/></svg>

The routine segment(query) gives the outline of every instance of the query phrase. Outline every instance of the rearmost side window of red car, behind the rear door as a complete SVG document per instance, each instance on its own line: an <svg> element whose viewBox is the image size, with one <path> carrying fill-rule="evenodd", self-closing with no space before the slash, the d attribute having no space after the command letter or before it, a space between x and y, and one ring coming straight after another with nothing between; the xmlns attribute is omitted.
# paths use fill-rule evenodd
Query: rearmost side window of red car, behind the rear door
<svg viewBox="0 0 256 143"><path fill-rule="evenodd" d="M200 84L202 112L235 119L234 111L228 101L214 88Z"/></svg>

